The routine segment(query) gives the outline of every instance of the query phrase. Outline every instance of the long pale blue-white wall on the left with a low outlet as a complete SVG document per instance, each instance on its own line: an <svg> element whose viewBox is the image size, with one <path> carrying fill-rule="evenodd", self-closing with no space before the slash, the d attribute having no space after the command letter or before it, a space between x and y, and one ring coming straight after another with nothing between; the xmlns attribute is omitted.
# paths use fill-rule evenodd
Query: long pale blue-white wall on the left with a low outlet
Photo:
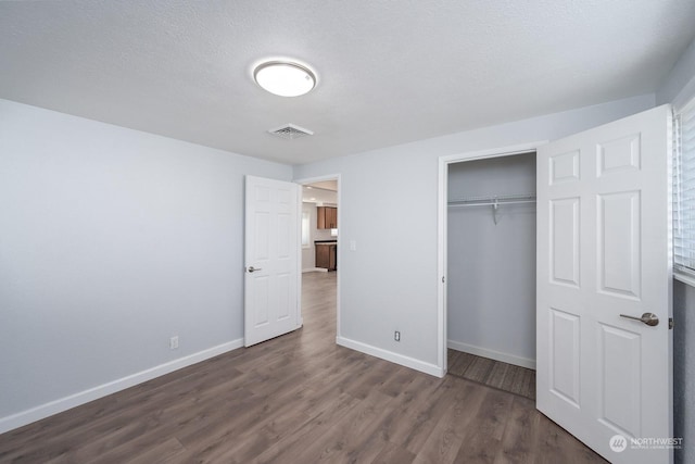
<svg viewBox="0 0 695 464"><path fill-rule="evenodd" d="M7 100L0 121L0 431L240 346L243 176L290 166Z"/></svg>

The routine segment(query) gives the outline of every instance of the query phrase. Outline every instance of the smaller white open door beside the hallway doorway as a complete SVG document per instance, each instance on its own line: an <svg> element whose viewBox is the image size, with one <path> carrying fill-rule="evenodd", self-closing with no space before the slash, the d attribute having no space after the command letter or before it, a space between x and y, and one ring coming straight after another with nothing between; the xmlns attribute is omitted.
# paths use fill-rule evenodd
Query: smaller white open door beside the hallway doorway
<svg viewBox="0 0 695 464"><path fill-rule="evenodd" d="M244 346L301 325L296 184L247 176Z"/></svg>

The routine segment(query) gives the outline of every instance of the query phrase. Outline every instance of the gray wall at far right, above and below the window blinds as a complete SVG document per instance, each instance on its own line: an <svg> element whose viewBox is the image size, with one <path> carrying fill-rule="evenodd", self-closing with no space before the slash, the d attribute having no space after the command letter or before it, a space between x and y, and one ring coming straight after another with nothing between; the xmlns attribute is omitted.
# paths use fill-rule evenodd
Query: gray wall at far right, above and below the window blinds
<svg viewBox="0 0 695 464"><path fill-rule="evenodd" d="M695 40L658 89L657 101L682 104L695 97ZM683 437L677 463L695 463L695 289L673 284L673 435Z"/></svg>

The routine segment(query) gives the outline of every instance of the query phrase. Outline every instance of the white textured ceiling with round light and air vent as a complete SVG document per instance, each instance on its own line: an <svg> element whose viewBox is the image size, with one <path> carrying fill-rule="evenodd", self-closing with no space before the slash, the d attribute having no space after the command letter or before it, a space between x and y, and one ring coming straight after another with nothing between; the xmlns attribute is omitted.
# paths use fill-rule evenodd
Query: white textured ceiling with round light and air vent
<svg viewBox="0 0 695 464"><path fill-rule="evenodd" d="M693 24L693 0L4 1L0 98L300 164L650 93ZM253 83L287 57L314 91Z"/></svg>

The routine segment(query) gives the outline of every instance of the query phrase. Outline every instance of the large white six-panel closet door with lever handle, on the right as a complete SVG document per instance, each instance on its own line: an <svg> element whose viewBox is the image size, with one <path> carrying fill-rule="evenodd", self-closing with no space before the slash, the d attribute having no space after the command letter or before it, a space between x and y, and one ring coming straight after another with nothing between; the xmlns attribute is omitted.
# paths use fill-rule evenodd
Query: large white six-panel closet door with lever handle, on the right
<svg viewBox="0 0 695 464"><path fill-rule="evenodd" d="M672 461L670 147L659 106L538 151L536 405L612 463Z"/></svg>

